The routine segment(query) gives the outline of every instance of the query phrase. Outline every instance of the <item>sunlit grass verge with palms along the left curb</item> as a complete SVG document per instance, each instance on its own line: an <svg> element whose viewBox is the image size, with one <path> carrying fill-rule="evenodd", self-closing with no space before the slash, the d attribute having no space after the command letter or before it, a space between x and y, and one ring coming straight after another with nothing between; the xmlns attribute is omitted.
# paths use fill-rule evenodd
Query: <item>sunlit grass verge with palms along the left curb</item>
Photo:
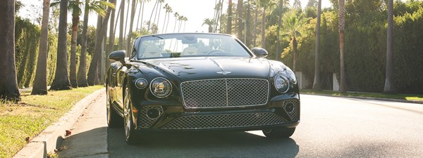
<svg viewBox="0 0 423 158"><path fill-rule="evenodd" d="M49 91L47 96L31 96L31 91L24 91L19 103L0 103L0 157L13 157L79 100L100 88L104 86Z"/></svg>

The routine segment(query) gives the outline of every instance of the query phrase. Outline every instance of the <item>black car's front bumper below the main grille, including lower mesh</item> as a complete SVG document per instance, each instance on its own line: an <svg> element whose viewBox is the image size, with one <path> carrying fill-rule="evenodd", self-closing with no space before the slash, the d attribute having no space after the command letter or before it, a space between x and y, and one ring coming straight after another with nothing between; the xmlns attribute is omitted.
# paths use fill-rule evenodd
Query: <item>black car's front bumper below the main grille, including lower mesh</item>
<svg viewBox="0 0 423 158"><path fill-rule="evenodd" d="M158 115L151 117L157 112ZM298 95L273 98L266 105L233 109L184 110L182 105L144 105L137 112L139 131L251 131L300 122Z"/></svg>

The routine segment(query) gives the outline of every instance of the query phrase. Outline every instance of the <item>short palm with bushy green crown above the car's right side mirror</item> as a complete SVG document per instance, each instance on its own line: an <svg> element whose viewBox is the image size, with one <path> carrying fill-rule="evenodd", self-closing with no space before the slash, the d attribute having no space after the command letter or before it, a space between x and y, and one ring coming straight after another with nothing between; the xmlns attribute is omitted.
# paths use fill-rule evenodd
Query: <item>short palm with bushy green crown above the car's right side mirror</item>
<svg viewBox="0 0 423 158"><path fill-rule="evenodd" d="M289 37L290 43L293 44L293 72L296 70L298 37L301 36L302 25L307 21L303 13L296 15L295 11L290 11L283 16L283 36Z"/></svg>

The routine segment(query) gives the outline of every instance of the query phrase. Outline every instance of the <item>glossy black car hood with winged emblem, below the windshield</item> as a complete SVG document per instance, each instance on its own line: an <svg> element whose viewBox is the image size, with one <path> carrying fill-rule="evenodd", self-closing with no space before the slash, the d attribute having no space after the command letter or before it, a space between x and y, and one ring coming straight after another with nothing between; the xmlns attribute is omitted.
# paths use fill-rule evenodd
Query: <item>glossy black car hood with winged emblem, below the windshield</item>
<svg viewBox="0 0 423 158"><path fill-rule="evenodd" d="M269 77L270 64L264 58L198 57L142 60L182 81L216 78Z"/></svg>

